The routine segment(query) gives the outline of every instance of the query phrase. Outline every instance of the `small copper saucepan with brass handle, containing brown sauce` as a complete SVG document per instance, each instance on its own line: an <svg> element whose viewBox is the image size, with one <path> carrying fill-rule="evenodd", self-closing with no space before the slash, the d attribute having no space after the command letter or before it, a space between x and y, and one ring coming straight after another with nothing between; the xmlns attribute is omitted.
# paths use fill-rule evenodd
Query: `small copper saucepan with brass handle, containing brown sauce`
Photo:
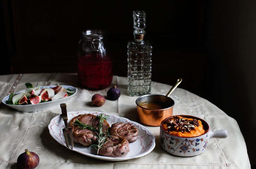
<svg viewBox="0 0 256 169"><path fill-rule="evenodd" d="M172 116L174 100L169 95L181 81L181 78L178 79L166 95L146 94L138 97L136 99L138 120L146 125L160 126L162 120Z"/></svg>

